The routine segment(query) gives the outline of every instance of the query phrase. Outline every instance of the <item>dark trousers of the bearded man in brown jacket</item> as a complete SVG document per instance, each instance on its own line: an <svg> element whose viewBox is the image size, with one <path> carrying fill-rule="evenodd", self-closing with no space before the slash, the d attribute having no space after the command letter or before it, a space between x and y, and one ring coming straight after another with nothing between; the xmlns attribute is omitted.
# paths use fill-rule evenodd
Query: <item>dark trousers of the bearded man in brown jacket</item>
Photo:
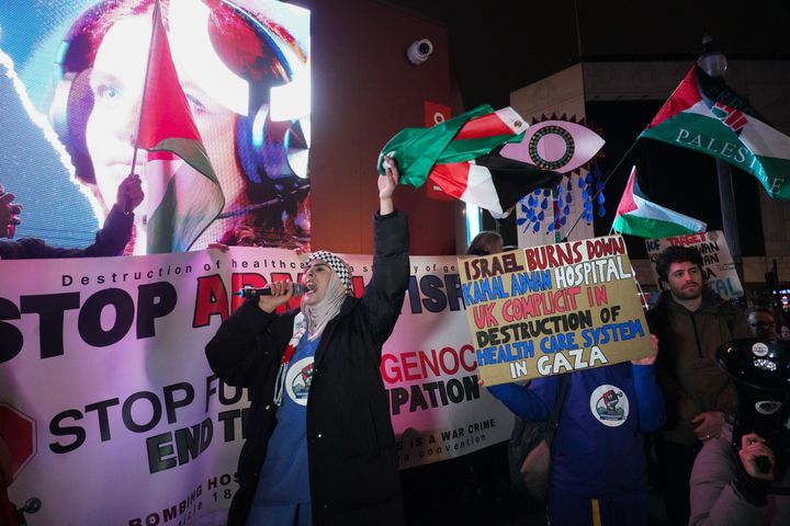
<svg viewBox="0 0 790 526"><path fill-rule="evenodd" d="M689 479L695 458L699 453L698 444L684 446L674 442L656 438L656 454L661 468L664 507L669 526L687 526L689 515Z"/></svg>

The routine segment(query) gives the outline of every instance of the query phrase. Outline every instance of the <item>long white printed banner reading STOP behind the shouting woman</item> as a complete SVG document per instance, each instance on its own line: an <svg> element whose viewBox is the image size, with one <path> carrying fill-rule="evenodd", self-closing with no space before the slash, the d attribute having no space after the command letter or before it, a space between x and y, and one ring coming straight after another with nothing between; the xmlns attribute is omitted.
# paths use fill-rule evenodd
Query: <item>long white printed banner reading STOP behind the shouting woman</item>
<svg viewBox="0 0 790 526"><path fill-rule="evenodd" d="M354 287L371 256L348 256ZM0 261L0 430L9 488L37 525L224 524L237 488L247 393L204 346L242 285L298 279L290 251L233 248L138 258ZM477 386L454 256L411 258L384 347L402 468L509 436Z"/></svg>

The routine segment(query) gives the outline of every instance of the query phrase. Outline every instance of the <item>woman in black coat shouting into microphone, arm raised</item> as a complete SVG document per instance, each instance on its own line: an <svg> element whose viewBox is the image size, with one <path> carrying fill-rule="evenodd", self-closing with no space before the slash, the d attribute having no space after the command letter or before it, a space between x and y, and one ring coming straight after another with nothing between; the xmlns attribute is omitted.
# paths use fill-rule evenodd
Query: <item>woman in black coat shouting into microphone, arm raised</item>
<svg viewBox="0 0 790 526"><path fill-rule="evenodd" d="M294 284L248 299L206 346L212 369L247 387L251 408L229 525L402 525L398 460L380 371L409 277L398 171L379 178L373 275L353 297L348 264L313 253L301 309L282 315Z"/></svg>

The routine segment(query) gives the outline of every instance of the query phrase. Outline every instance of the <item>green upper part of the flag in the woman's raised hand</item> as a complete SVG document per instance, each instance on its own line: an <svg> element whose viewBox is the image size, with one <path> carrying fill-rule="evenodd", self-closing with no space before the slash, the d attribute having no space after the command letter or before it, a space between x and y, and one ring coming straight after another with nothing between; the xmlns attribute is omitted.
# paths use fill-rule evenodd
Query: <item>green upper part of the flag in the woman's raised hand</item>
<svg viewBox="0 0 790 526"><path fill-rule="evenodd" d="M511 107L495 112L485 104L430 128L406 128L382 149L379 173L384 174L384 156L391 156L400 183L418 188L435 164L472 161L506 142L518 142L527 126Z"/></svg>

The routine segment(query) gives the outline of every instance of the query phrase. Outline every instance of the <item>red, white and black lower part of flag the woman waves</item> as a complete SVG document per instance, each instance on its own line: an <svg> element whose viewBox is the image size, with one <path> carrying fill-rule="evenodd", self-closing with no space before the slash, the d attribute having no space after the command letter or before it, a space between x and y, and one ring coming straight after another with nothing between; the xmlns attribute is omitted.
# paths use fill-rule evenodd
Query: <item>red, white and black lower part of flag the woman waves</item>
<svg viewBox="0 0 790 526"><path fill-rule="evenodd" d="M429 179L444 193L485 208L494 217L504 217L524 195L538 188L556 187L562 174L487 155L466 162L436 164Z"/></svg>

